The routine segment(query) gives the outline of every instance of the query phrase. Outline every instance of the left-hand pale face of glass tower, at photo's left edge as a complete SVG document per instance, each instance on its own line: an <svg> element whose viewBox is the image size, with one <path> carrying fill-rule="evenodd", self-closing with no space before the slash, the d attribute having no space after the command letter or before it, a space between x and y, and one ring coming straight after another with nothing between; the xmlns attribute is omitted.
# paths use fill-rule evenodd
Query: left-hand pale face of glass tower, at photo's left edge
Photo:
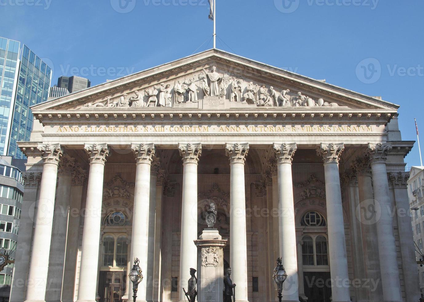
<svg viewBox="0 0 424 302"><path fill-rule="evenodd" d="M16 95L20 42L0 37L0 154L6 155Z"/></svg>

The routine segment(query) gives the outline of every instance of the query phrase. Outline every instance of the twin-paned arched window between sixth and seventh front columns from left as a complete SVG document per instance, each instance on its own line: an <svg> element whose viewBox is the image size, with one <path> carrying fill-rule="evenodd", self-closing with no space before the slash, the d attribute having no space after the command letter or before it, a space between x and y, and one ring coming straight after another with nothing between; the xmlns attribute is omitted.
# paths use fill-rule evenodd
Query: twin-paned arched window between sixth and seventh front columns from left
<svg viewBox="0 0 424 302"><path fill-rule="evenodd" d="M326 237L305 236L302 238L303 265L328 265L328 246Z"/></svg>

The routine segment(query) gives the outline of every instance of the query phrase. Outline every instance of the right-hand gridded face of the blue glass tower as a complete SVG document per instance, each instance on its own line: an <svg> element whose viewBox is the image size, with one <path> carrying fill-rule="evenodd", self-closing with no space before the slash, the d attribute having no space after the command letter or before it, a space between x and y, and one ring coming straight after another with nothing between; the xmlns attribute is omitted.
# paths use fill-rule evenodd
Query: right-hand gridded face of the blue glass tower
<svg viewBox="0 0 424 302"><path fill-rule="evenodd" d="M17 142L29 141L33 123L29 107L47 101L51 76L50 67L24 45L7 155L25 158Z"/></svg>

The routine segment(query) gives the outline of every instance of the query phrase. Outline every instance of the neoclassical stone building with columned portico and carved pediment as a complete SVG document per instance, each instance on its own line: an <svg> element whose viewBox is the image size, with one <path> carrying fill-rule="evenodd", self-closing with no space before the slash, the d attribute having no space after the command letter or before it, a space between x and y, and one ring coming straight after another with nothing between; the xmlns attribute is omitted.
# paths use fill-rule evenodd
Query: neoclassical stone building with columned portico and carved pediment
<svg viewBox="0 0 424 302"><path fill-rule="evenodd" d="M210 202L237 301L419 299L398 105L214 49L31 109L11 301L185 301Z"/></svg>

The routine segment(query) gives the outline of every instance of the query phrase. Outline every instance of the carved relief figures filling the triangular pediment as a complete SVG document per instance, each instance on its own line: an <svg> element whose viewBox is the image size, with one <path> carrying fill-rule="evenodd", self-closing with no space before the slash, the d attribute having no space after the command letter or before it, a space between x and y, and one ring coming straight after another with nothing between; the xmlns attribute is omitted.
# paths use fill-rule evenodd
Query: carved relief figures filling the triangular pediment
<svg viewBox="0 0 424 302"><path fill-rule="evenodd" d="M279 92L281 91L281 92ZM285 87L260 84L235 73L204 69L188 77L162 82L159 85L123 93L113 99L84 104L92 107L176 107L198 103L205 98L225 99L229 103L256 105L257 107L338 107L338 103L313 99L303 92L291 92ZM242 106L243 107L243 106Z"/></svg>

